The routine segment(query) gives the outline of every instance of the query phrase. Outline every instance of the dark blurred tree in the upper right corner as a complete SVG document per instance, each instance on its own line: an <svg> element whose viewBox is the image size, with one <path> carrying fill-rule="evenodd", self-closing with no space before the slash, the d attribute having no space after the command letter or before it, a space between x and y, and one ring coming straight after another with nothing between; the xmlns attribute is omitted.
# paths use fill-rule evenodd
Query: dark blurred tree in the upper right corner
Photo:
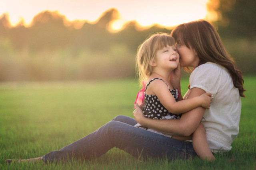
<svg viewBox="0 0 256 170"><path fill-rule="evenodd" d="M256 0L209 0L208 11L214 14L221 36L256 40Z"/></svg>

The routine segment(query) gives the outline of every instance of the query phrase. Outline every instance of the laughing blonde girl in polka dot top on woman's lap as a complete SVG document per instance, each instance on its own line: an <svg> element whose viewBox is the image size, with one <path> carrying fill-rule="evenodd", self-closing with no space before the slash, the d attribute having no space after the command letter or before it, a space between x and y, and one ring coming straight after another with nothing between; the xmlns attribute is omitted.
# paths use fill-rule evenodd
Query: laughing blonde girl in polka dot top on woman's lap
<svg viewBox="0 0 256 170"><path fill-rule="evenodd" d="M182 100L178 89L170 84L170 73L178 67L179 54L176 51L175 40L172 36L159 33L150 36L142 43L137 52L137 67L139 79L146 81L144 92L144 117L150 119L180 119L185 113L196 107L209 109L212 101L210 93L204 93L193 99ZM168 95L170 94L170 95ZM162 134L177 140L193 139L193 147L202 159L214 160L214 156L206 141L202 124L191 136L170 136L154 129L144 127L139 123L135 127Z"/></svg>

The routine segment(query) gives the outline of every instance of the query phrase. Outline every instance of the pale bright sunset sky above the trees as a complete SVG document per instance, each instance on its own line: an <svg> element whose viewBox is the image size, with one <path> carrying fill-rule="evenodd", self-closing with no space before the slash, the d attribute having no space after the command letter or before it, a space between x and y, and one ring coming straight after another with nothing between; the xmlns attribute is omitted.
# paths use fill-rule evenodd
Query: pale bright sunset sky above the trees
<svg viewBox="0 0 256 170"><path fill-rule="evenodd" d="M125 22L136 20L141 26L159 24L172 27L204 19L208 0L0 0L0 16L9 14L12 25L21 18L29 26L38 13L58 11L70 21L95 22L103 12L116 8L120 19L113 23L118 30Z"/></svg>

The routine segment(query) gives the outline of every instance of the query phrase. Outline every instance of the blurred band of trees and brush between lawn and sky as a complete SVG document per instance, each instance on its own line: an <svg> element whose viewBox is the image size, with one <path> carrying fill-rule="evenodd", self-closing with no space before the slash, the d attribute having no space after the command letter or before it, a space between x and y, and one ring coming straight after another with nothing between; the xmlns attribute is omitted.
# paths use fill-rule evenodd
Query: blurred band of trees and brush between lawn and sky
<svg viewBox="0 0 256 170"><path fill-rule="evenodd" d="M222 1L213 8L214 0L209 0L209 9L219 15L213 24L238 67L244 74L255 75L255 21L236 17L235 11L245 10L245 5L241 5L243 0ZM247 5L252 8L253 2L248 0ZM22 22L10 26L8 15L3 14L0 16L0 81L134 77L138 45L150 34L171 30L158 25L139 28L138 23L131 21L119 32L112 33L108 28L118 15L118 10L112 8L97 22L84 21L77 28L79 21L69 22L58 12L40 12L29 27Z"/></svg>

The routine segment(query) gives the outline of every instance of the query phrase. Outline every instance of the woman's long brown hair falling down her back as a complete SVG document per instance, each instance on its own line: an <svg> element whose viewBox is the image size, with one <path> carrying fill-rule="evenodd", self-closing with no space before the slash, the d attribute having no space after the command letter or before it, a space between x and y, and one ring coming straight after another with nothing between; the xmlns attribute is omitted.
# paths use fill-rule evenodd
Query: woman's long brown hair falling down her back
<svg viewBox="0 0 256 170"><path fill-rule="evenodd" d="M171 36L176 42L180 41L197 52L199 65L212 62L228 69L240 96L245 97L242 72L236 68L234 59L226 51L219 34L209 22L198 20L180 24L172 30Z"/></svg>

